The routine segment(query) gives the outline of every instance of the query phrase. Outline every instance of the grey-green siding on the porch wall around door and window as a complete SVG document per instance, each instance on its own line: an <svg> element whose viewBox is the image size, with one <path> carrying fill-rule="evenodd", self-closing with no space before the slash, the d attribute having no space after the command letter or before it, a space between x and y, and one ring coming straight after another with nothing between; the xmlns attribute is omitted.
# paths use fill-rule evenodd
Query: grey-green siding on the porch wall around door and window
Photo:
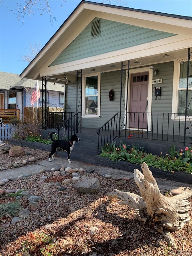
<svg viewBox="0 0 192 256"><path fill-rule="evenodd" d="M152 89L152 113L171 113L172 112L172 94L173 94L173 65L174 62L166 62L156 64L155 68L159 70L159 74L153 79L162 78L163 83L158 84L161 86L161 98L160 100L155 100L155 87L157 85L153 84ZM123 120L124 120L124 110L125 110L125 75L123 77L123 88L122 88L122 115L121 115L121 129L124 128ZM100 128L104 123L106 123L112 116L114 116L117 112L119 112L119 103L120 103L120 87L121 87L121 71L114 72L106 72L104 75L101 75L101 109L100 109L100 118L86 118L82 117L82 127L85 128ZM113 101L109 100L109 92L113 89L114 91L114 99ZM80 89L78 87L78 103L80 104ZM67 111L76 111L76 85L69 84L66 88L66 96L67 96ZM129 99L128 99L129 101ZM129 102L128 102L129 104ZM80 112L80 106L78 109ZM169 131L167 129L168 119L166 119L168 115L164 114L164 122L162 122L162 115L154 114L153 119L153 133L158 132L161 134L163 131L164 134L178 134L180 129L184 130L184 121L173 121L171 120L171 115L169 116ZM158 119L158 127L157 127L157 119ZM151 123L152 124L152 123ZM187 126L190 126L190 123L187 122ZM188 132L188 131L187 131Z"/></svg>

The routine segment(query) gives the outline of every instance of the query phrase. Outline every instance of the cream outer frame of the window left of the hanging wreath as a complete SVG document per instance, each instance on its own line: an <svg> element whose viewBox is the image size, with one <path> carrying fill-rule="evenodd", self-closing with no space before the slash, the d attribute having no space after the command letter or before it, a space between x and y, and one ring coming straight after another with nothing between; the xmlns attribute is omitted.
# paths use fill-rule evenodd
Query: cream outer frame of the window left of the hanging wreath
<svg viewBox="0 0 192 256"><path fill-rule="evenodd" d="M97 109L97 115L95 114L86 114L86 101L85 97L92 96L92 95L87 95L85 96L85 86L86 86L86 77L98 77L98 109ZM91 75L85 75L83 76L82 79L82 117L86 118L100 118L100 103L101 103L101 73L92 73Z"/></svg>

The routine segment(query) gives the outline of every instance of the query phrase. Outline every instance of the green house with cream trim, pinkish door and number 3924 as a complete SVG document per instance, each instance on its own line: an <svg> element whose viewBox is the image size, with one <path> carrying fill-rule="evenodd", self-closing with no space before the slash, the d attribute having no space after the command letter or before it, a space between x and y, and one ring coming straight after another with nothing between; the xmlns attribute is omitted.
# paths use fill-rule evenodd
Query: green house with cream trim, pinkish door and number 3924
<svg viewBox="0 0 192 256"><path fill-rule="evenodd" d="M191 17L82 1L20 76L63 81L64 107L83 128L185 143L191 25Z"/></svg>

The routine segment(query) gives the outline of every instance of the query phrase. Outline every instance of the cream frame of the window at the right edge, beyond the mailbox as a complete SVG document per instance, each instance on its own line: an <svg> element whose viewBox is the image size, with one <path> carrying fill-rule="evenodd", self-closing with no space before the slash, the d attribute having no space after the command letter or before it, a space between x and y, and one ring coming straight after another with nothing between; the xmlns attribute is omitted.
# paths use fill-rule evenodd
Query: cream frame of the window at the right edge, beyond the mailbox
<svg viewBox="0 0 192 256"><path fill-rule="evenodd" d="M173 71L173 98L172 98L172 116L171 120L185 121L185 116L174 115L174 113L179 113L179 91L186 90L186 88L179 88L180 79L180 62L174 60L174 71ZM188 91L192 88L188 88ZM192 116L187 116L187 121L190 121Z"/></svg>

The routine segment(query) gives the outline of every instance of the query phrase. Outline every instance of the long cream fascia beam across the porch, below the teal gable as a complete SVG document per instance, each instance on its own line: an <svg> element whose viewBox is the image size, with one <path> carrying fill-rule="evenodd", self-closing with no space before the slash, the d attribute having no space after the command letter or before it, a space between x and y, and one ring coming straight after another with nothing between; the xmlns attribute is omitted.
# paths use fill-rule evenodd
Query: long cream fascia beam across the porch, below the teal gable
<svg viewBox="0 0 192 256"><path fill-rule="evenodd" d="M117 50L110 53L105 53L97 56L88 57L85 59L76 60L64 64L59 64L51 67L44 67L41 71L41 76L50 76L52 74L62 74L74 70L97 67L100 65L109 65L114 62L122 62L131 59L138 59L157 54L164 54L174 50L182 50L191 47L191 38L182 40L182 36L175 36L177 40L170 41L169 38L159 40L159 43L154 42L142 44L139 46L130 47L127 49ZM171 39L171 38L170 38ZM161 41L161 43L160 43Z"/></svg>

